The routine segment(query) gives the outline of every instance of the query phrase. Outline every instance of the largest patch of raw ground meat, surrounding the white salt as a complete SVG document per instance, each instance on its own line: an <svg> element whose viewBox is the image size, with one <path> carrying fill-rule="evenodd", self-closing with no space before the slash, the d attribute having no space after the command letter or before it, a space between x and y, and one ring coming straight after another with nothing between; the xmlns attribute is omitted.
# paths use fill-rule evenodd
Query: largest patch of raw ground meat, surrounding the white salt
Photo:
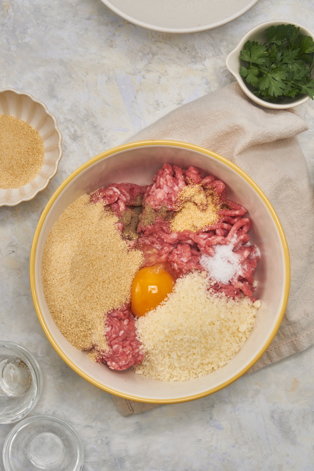
<svg viewBox="0 0 314 471"><path fill-rule="evenodd" d="M233 299L239 298L242 291L255 300L252 297L253 273L259 254L254 245L246 245L250 239L247 233L251 220L242 217L247 211L244 206L226 199L224 182L216 180L212 175L204 177L194 167L182 170L176 165L171 167L169 164L163 165L154 176L153 182L153 186L146 188L143 207L145 211L146 206L150 205L156 212L156 218L151 224L145 225L140 221L137 226L139 233L137 247L144 252L145 264L169 264L175 277L178 277L193 268L203 270L200 265L201 255L212 256L215 253L215 245L232 244L233 251L241 256L242 276L233 279L229 284L216 282L211 288L217 292L224 292ZM159 216L158 211L164 207L171 215L171 211L176 209L179 191L195 183L201 184L203 188L215 190L222 205L222 209L217 213L220 218L216 224L198 232L188 230L172 232L170 221Z"/></svg>

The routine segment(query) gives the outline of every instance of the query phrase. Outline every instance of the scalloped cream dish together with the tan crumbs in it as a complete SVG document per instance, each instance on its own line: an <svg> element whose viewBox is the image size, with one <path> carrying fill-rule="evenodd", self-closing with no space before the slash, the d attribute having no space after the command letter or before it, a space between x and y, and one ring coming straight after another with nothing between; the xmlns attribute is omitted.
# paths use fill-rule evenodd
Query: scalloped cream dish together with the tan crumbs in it
<svg viewBox="0 0 314 471"><path fill-rule="evenodd" d="M0 206L47 187L62 157L62 136L47 106L26 92L0 90Z"/></svg>

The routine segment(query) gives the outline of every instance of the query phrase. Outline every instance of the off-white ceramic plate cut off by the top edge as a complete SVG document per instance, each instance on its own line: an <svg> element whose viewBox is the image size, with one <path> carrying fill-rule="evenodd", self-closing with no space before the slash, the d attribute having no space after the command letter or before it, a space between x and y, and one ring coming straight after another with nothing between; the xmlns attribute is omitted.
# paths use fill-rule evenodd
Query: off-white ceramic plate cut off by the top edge
<svg viewBox="0 0 314 471"><path fill-rule="evenodd" d="M102 0L117 15L143 28L197 32L217 28L250 10L258 0Z"/></svg>

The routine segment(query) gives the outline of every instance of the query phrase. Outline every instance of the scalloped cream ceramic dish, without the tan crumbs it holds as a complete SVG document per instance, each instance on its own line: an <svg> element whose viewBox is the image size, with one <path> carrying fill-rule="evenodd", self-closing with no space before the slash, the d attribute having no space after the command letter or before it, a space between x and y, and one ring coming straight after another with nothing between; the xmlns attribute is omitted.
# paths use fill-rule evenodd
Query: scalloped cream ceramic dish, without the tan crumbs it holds
<svg viewBox="0 0 314 471"><path fill-rule="evenodd" d="M62 136L54 115L30 93L10 88L0 90L0 114L8 114L30 124L39 132L45 147L44 162L35 179L24 187L0 188L0 206L15 206L34 198L56 175L62 157Z"/></svg>

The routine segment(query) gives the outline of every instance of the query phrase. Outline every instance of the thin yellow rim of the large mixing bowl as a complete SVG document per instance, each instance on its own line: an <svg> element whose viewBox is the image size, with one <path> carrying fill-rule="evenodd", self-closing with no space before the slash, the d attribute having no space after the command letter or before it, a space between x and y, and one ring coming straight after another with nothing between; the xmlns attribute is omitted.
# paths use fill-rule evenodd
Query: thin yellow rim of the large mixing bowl
<svg viewBox="0 0 314 471"><path fill-rule="evenodd" d="M55 202L56 198L60 195L60 193L63 191L63 189L74 179L81 171L85 170L88 168L90 165L93 163L97 162L98 160L104 159L105 157L108 157L109 155L115 154L117 152L126 150L126 149L131 149L132 147L141 147L141 146L152 146L152 145L158 145L158 146L177 146L177 147L185 147L187 149L192 149L197 152L201 152L202 154L207 154L210 155L211 157L214 157L215 159L219 160L220 162L225 163L228 167L231 167L234 171L236 171L239 175L244 178L252 188L258 193L260 198L263 200L263 202L266 204L266 207L270 214L272 215L274 219L274 223L276 224L276 227L278 229L280 239L282 242L282 249L283 249L283 255L284 255L284 261L285 261L285 282L284 282L284 294L283 294L283 300L282 300L282 306L279 312L279 316L277 318L276 324L274 325L274 328L269 335L268 339L266 340L264 346L258 354L250 361L248 365L246 365L239 373L235 374L232 378L228 379L227 381L223 382L222 384L219 384L215 388L211 388L207 391L201 392L199 394L193 394L192 396L187 396L185 398L174 398L174 399L146 399L146 398L138 398L136 396L131 396L129 394L123 394L119 391L116 391L114 389L108 388L101 384L100 382L94 380L91 378L88 374L84 373L80 368L78 368L70 358L68 358L66 355L64 355L64 352L60 349L58 344L56 343L55 339L53 338L52 334L50 333L48 326L45 322L45 319L42 315L40 305L39 305L39 300L37 296L37 290L36 290L36 283L35 283L35 257L36 257L36 250L37 250L37 244L40 236L40 231L42 228L42 225L47 217L47 214ZM93 157L90 159L88 162L83 163L81 167L79 167L77 170L75 170L67 179L64 180L64 182L60 185L60 187L57 188L55 193L51 196L50 200L48 201L45 209L42 211L40 219L38 221L35 234L33 237L32 241L32 249L31 249L31 257L30 257L30 284L31 284L31 292L32 292L32 300L36 309L37 316L39 318L41 327L43 328L45 334L47 335L47 338L53 348L56 350L56 352L60 355L60 357L69 365L72 370L74 370L76 373L78 373L82 378L85 380L89 381L90 383L94 384L98 388L105 390L111 394L114 394L115 396L119 396L121 398L133 400L133 401L138 401L138 402L147 402L151 404L173 404L173 403L178 403L178 402L186 402L186 401L193 401L194 399L199 399L203 398L204 396L208 396L209 394L213 394L214 392L217 392L232 382L236 381L238 378L240 378L244 373L246 373L257 361L258 359L263 355L263 353L266 351L266 349L269 347L271 342L274 339L274 336L276 335L281 323L282 323L282 318L284 316L284 312L286 310L286 306L288 303L288 298L289 298L289 290L290 290L290 258L289 258L289 250L288 250L288 244L286 237L283 232L283 228L281 225L281 222L266 195L262 192L262 190L258 187L258 185L249 177L247 173L245 173L240 167L235 165L233 162L230 162L227 160L225 157L222 157L219 154L216 154L215 152L212 152L208 149L205 149L200 146L195 146L193 144L187 144L185 142L179 142L179 141L172 141L172 140L147 140L147 141L139 141L139 142L132 142L130 144L124 144L122 146L117 146L113 147L113 149L109 149L105 152L102 152L101 154L96 155L96 157Z"/></svg>

